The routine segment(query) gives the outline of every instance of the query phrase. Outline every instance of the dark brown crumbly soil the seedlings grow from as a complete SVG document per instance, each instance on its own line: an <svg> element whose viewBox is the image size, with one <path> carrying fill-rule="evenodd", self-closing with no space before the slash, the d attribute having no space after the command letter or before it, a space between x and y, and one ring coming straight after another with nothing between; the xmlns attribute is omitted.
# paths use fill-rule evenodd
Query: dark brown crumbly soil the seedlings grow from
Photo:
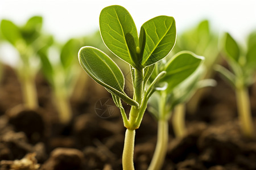
<svg viewBox="0 0 256 170"><path fill-rule="evenodd" d="M256 169L256 140L241 134L234 91L218 75L214 79L217 86L209 88L197 112L186 114L184 137L174 137L170 121L163 169ZM104 88L91 79L87 85L84 100L71 100L72 121L61 125L43 76L36 77L40 107L27 110L15 71L5 66L0 84L0 170L122 169L121 115ZM256 87L249 92L256 125ZM156 121L146 112L136 131L135 169L150 164L156 131Z"/></svg>

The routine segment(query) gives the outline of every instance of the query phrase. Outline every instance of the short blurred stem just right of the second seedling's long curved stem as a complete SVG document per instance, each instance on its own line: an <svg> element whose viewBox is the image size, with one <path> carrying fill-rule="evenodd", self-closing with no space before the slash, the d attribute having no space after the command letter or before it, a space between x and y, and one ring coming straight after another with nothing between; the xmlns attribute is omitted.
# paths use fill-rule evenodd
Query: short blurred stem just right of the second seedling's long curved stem
<svg viewBox="0 0 256 170"><path fill-rule="evenodd" d="M182 137L185 133L185 104L176 105L172 125L176 137Z"/></svg>

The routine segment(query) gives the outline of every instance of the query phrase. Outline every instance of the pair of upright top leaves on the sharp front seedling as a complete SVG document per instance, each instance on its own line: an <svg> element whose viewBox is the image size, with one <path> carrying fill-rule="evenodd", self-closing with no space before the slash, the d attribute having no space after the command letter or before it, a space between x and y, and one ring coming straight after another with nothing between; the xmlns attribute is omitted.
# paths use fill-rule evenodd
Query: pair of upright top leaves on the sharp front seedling
<svg viewBox="0 0 256 170"><path fill-rule="evenodd" d="M174 18L157 16L137 28L129 12L109 6L100 14L100 32L105 45L134 68L150 66L170 53L176 41Z"/></svg>

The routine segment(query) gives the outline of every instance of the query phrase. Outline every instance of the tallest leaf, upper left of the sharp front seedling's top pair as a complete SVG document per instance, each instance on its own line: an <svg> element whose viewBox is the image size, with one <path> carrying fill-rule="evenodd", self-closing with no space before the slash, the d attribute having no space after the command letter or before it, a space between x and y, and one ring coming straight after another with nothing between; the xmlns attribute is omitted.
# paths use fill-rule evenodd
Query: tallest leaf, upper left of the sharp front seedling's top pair
<svg viewBox="0 0 256 170"><path fill-rule="evenodd" d="M134 46L139 44L138 32L133 18L124 7L108 6L101 11L100 32L109 50L135 67L133 51Z"/></svg>

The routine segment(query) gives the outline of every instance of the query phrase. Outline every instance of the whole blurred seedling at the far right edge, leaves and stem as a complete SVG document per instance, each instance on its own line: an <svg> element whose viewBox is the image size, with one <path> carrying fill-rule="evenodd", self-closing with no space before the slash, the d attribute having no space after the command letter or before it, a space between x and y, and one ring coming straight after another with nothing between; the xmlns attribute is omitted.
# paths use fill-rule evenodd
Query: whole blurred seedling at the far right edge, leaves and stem
<svg viewBox="0 0 256 170"><path fill-rule="evenodd" d="M228 80L236 91L237 109L242 133L247 138L253 138L255 134L251 117L248 86L254 82L256 41L248 41L247 52L243 53L233 37L229 33L225 33L224 53L232 71L220 65L216 66L216 70L221 73L225 80Z"/></svg>

